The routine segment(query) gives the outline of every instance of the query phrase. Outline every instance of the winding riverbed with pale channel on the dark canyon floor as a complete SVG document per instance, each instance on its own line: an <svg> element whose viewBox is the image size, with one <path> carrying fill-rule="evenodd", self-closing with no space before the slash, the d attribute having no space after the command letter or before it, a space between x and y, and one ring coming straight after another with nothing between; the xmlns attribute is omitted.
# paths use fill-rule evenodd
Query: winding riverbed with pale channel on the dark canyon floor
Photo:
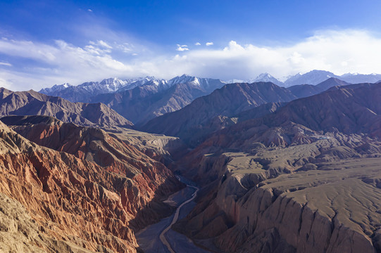
<svg viewBox="0 0 381 253"><path fill-rule="evenodd" d="M194 245L192 240L170 228L175 221L187 216L196 205L194 197L199 188L191 181L181 178L187 187L168 197L167 202L176 205L176 211L158 223L136 233L137 242L145 253L210 253Z"/></svg>

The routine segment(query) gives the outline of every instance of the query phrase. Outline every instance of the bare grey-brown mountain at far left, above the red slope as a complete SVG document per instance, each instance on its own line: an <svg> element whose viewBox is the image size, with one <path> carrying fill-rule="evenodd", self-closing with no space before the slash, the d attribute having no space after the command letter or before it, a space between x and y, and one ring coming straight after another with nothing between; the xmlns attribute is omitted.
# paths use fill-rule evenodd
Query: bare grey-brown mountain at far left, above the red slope
<svg viewBox="0 0 381 253"><path fill-rule="evenodd" d="M132 126L124 117L101 103L72 103L36 91L0 89L0 115L47 115L85 126Z"/></svg>

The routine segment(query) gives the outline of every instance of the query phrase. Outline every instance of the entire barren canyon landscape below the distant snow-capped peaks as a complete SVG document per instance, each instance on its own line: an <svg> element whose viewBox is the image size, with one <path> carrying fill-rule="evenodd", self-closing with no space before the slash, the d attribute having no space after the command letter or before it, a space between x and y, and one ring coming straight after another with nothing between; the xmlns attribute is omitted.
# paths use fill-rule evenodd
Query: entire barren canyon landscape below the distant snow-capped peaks
<svg viewBox="0 0 381 253"><path fill-rule="evenodd" d="M134 125L1 89L0 251L381 252L380 100L235 83Z"/></svg>

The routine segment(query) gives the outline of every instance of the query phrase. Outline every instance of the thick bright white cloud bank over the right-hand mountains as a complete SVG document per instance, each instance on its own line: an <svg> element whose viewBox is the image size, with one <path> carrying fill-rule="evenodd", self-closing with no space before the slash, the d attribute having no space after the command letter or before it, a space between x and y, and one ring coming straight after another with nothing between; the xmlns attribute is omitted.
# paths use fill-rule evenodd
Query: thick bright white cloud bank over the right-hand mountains
<svg viewBox="0 0 381 253"><path fill-rule="evenodd" d="M186 59L168 61L170 70L221 79L249 79L261 72L284 77L329 70L381 73L381 37L363 30L325 30L287 46L258 46L230 41L224 48L189 51Z"/></svg>

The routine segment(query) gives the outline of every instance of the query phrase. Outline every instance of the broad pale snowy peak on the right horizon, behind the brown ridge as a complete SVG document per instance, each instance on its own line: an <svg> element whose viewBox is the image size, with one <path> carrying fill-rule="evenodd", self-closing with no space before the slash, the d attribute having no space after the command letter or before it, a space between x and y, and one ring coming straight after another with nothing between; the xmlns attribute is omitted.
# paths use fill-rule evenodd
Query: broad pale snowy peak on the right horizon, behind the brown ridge
<svg viewBox="0 0 381 253"><path fill-rule="evenodd" d="M332 72L325 71L325 70L312 70L310 72L307 72L306 74L295 74L292 77L289 77L285 81L285 86L294 86L299 84L320 84L321 82L324 82L325 80L335 77L340 78L336 74L333 74Z"/></svg>

